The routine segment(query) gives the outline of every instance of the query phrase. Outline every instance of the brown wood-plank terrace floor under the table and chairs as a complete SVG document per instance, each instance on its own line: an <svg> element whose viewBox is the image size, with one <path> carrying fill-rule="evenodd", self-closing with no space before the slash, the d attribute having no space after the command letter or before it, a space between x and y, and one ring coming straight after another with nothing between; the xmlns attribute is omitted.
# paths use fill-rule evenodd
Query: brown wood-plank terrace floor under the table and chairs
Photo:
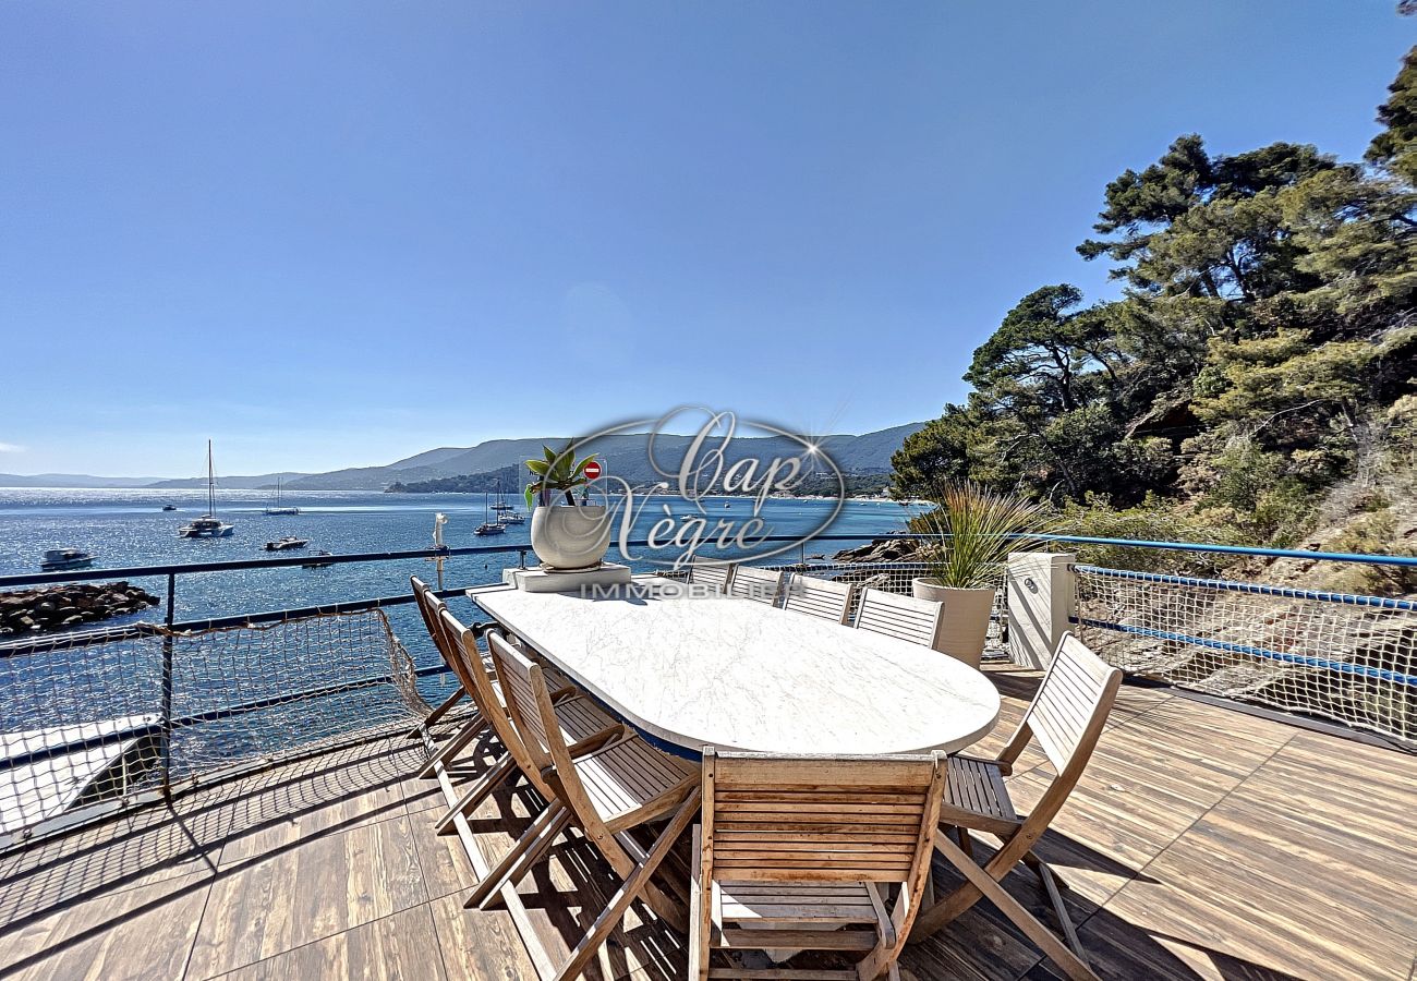
<svg viewBox="0 0 1417 981"><path fill-rule="evenodd" d="M1036 685L993 678L1005 717L981 750ZM402 739L351 746L0 859L0 975L531 981L510 916L462 909L473 876L458 839L432 831L436 784L408 778L421 758ZM1023 758L1020 807L1046 766ZM526 805L489 802L479 846L506 848ZM1041 851L1104 977L1413 977L1417 757L1124 686ZM1032 876L1007 885L1043 916ZM521 893L564 948L611 887L570 839ZM684 977L683 938L640 914L592 975ZM901 967L917 981L1054 977L986 906Z"/></svg>

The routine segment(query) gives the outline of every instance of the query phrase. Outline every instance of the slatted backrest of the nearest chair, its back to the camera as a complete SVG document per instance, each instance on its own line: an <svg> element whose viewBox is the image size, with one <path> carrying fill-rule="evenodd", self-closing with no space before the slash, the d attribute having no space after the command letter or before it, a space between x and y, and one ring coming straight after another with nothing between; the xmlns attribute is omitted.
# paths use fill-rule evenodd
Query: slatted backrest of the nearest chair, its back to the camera
<svg viewBox="0 0 1417 981"><path fill-rule="evenodd" d="M703 876L924 886L945 754L704 753Z"/></svg>

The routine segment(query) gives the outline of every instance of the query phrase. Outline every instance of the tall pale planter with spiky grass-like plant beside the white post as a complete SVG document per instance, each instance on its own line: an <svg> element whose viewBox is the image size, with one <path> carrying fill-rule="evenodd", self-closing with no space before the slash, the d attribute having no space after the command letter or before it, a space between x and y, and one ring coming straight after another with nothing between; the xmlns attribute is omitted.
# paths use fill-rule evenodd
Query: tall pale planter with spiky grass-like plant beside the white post
<svg viewBox="0 0 1417 981"><path fill-rule="evenodd" d="M938 536L924 549L925 576L911 593L944 604L938 649L978 668L1009 553L1036 547L1029 536L1047 530L1047 512L969 481L948 485L937 503L911 520L913 532Z"/></svg>

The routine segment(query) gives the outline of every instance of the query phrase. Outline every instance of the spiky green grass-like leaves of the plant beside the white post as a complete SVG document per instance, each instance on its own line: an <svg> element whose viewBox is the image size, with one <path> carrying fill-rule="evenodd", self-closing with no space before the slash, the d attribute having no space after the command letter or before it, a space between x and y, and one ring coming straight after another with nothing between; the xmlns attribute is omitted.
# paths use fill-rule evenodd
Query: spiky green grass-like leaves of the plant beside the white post
<svg viewBox="0 0 1417 981"><path fill-rule="evenodd" d="M972 481L949 483L935 495L939 505L911 520L911 530L938 534L924 549L925 578L956 590L996 587L1010 551L1037 549L1051 515L1015 493L989 490Z"/></svg>

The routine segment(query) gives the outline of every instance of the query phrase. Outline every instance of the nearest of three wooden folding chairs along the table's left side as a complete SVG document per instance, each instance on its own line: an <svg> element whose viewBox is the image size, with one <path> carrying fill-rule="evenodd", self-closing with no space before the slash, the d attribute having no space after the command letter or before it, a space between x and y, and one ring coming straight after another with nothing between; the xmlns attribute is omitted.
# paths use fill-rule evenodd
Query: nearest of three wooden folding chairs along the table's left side
<svg viewBox="0 0 1417 981"><path fill-rule="evenodd" d="M497 634L489 634L489 644L520 746L538 767L553 798L513 846L517 861L499 882L489 878L486 885L479 883L473 899L485 907L503 885L516 886L541 861L557 835L568 824L575 824L623 885L561 965L555 975L558 980L574 978L589 964L636 899L670 924L684 929L687 910L665 893L652 875L699 812L696 768L660 753L633 733L577 754L555 726L555 706L541 666ZM628 834L666 815L672 817L649 851Z"/></svg>

